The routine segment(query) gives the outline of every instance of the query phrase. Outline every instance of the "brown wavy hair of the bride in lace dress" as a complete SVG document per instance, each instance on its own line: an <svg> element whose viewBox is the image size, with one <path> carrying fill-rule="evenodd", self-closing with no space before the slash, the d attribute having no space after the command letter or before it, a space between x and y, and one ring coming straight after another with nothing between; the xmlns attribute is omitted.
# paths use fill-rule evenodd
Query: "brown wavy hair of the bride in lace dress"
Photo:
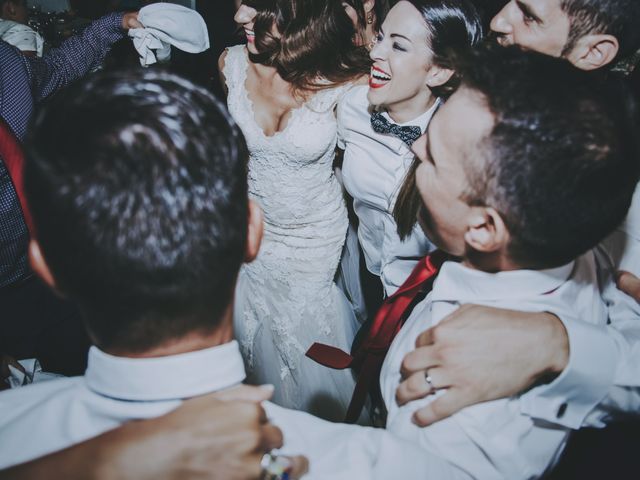
<svg viewBox="0 0 640 480"><path fill-rule="evenodd" d="M354 45L355 27L339 0L253 0L254 63L274 67L296 93L317 91L368 73L371 60Z"/></svg>

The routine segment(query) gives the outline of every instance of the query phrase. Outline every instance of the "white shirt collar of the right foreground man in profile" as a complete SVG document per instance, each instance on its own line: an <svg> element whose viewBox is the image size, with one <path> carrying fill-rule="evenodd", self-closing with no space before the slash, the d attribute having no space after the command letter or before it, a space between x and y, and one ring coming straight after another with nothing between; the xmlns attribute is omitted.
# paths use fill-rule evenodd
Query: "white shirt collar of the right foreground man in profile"
<svg viewBox="0 0 640 480"><path fill-rule="evenodd" d="M487 273L445 262L433 285L432 301L474 303L516 300L545 295L571 276L575 262L547 270L512 270Z"/></svg>

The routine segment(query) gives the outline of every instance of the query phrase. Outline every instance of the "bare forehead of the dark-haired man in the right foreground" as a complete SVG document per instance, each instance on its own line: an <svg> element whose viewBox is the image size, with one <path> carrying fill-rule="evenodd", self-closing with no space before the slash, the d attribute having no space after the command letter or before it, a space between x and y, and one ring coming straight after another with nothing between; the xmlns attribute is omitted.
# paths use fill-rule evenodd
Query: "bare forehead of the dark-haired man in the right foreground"
<svg viewBox="0 0 640 480"><path fill-rule="evenodd" d="M438 109L429 125L429 143L436 164L438 160L461 163L466 156L473 156L493 125L494 117L485 98L476 91L460 88Z"/></svg>

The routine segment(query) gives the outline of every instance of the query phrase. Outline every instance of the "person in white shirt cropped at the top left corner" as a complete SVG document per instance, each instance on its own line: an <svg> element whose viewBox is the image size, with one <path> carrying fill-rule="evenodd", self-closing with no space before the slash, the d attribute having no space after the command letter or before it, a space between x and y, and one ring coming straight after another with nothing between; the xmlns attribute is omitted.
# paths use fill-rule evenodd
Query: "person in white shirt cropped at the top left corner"
<svg viewBox="0 0 640 480"><path fill-rule="evenodd" d="M24 55L41 57L44 40L27 20L27 0L0 0L0 39Z"/></svg>

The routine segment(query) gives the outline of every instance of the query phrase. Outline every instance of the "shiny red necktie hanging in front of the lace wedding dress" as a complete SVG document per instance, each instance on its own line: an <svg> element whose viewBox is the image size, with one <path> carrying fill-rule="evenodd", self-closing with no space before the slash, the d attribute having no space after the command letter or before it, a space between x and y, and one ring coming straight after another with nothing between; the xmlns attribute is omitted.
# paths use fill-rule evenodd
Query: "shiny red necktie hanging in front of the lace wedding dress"
<svg viewBox="0 0 640 480"><path fill-rule="evenodd" d="M420 293L428 293L431 290L438 270L447 258L447 254L437 250L418 262L407 280L384 301L366 338L351 355L322 343L314 343L307 350L307 357L325 367L338 370L352 367L358 372L345 422L357 421L367 394L380 376L380 369L391 342L411 313L410 307Z"/></svg>

